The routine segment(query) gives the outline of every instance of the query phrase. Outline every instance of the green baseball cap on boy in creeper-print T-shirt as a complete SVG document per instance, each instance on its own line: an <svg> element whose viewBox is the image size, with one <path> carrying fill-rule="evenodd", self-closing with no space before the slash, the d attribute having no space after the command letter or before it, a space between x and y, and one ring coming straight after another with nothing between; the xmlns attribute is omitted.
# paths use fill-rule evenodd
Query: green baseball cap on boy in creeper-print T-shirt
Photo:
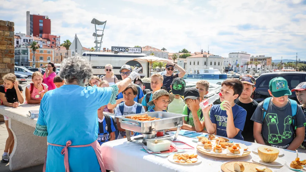
<svg viewBox="0 0 306 172"><path fill-rule="evenodd" d="M274 97L282 97L284 95L292 95L288 87L288 82L283 77L276 77L270 80L269 89Z"/></svg>

